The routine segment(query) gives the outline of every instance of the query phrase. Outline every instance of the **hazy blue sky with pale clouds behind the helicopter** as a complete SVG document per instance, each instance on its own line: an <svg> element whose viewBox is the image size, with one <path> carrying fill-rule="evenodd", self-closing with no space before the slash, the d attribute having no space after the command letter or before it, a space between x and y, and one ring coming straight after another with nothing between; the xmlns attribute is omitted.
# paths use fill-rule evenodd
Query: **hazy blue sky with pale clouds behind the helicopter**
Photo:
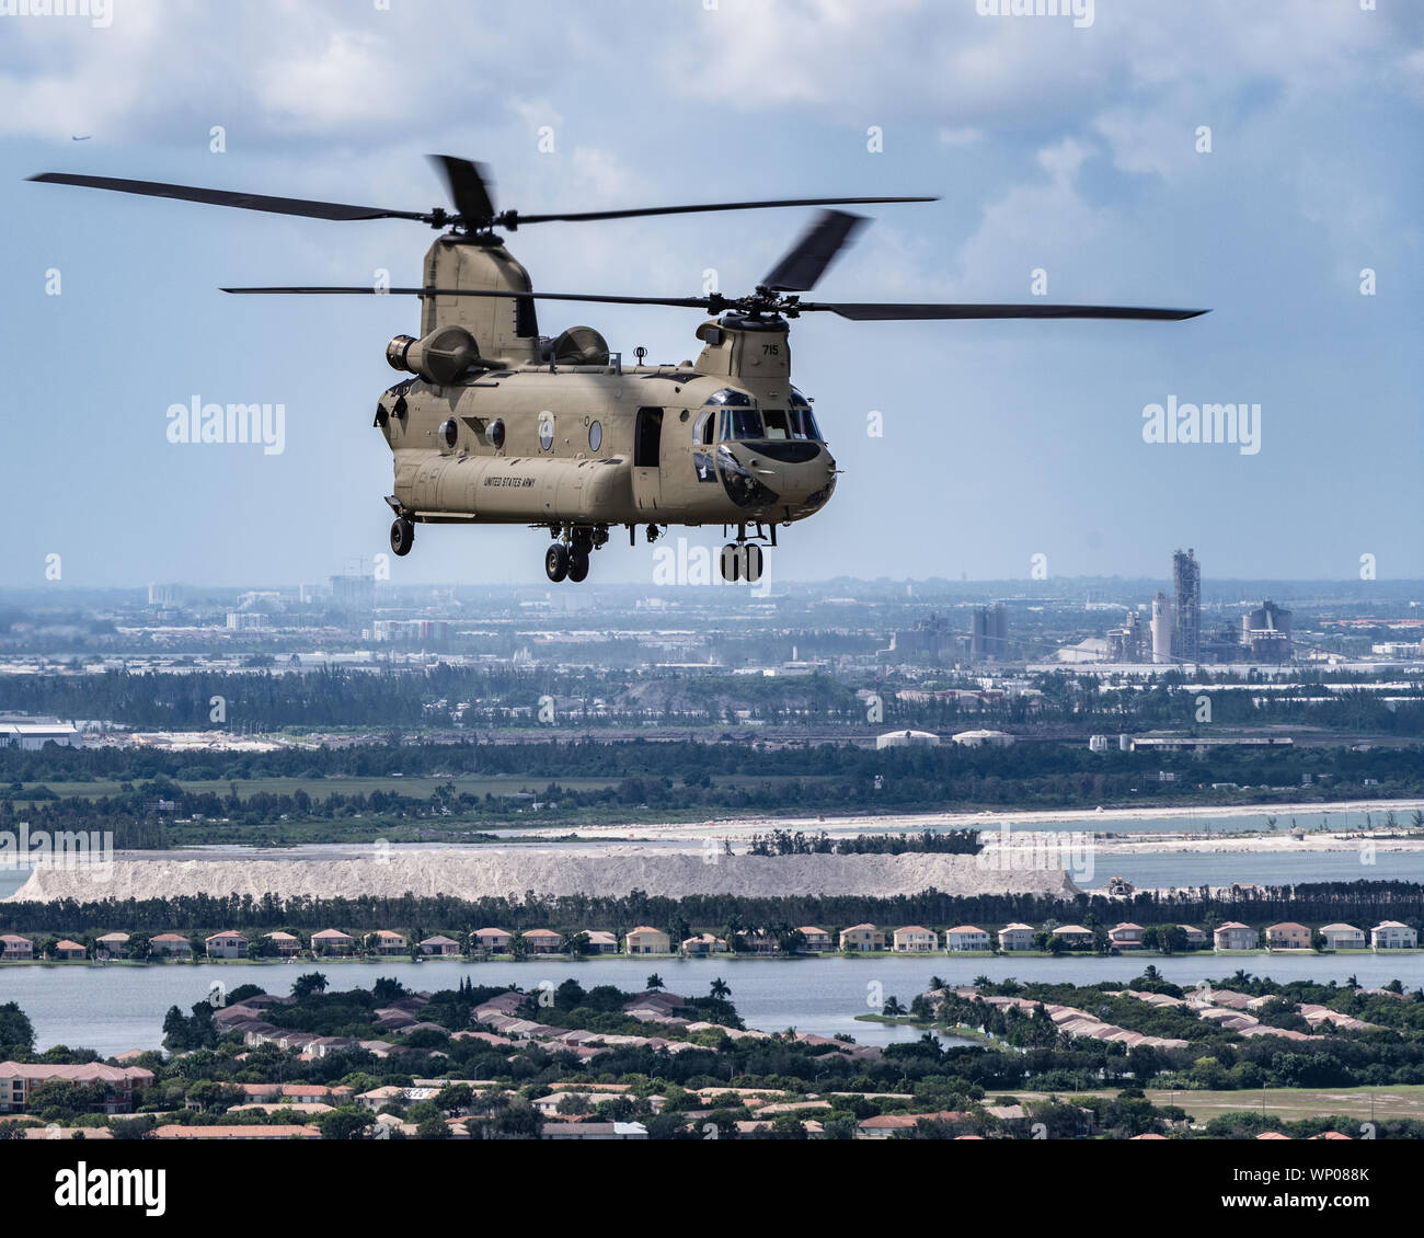
<svg viewBox="0 0 1424 1238"><path fill-rule="evenodd" d="M1185 323L795 325L797 385L846 470L769 576L1424 577L1424 7L1098 0L1092 24L974 0L588 4L112 0L0 16L0 322L17 527L0 586L298 583L386 550L372 412L414 298L235 299L224 284L419 282L431 235L24 184L47 170L444 204L424 154L501 205L594 209L940 194L866 208L839 299L1209 306ZM222 125L226 151L209 150ZM1199 127L1212 151L1198 152ZM540 151L541 130L553 152ZM881 151L867 148L877 127ZM75 141L84 137L84 141ZM543 225L550 291L750 286L805 211ZM46 295L46 272L61 295ZM1360 293L1364 268L1376 295ZM541 306L652 360L696 313ZM194 396L281 402L281 454L167 440ZM1142 409L1262 406L1262 446L1149 444ZM883 415L883 437L866 433ZM702 539L711 540L711 539ZM538 581L528 530L426 529L407 581ZM652 577L615 537L600 580Z"/></svg>

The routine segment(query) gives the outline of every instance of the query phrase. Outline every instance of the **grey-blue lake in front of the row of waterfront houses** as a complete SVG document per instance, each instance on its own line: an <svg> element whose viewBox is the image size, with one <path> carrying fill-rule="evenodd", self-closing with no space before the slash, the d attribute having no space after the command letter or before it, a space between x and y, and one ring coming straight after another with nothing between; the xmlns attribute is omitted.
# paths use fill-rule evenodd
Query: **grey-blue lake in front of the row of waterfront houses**
<svg viewBox="0 0 1424 1238"><path fill-rule="evenodd" d="M468 976L476 984L517 984L531 989L575 977L585 989L617 984L638 992L649 973L662 976L674 993L696 996L721 976L732 987L732 1002L748 1027L765 1031L849 1033L862 1044L914 1040L913 1027L862 1023L857 1014L879 1011L899 997L906 1006L940 976L968 984L980 974L991 980L1126 982L1153 963L1178 984L1218 980L1245 967L1274 980L1344 982L1356 976L1370 987L1398 977L1408 987L1424 982L1424 956L1227 956L1215 957L1065 957L1065 959L530 959L521 963L386 962L386 963L269 963L269 964L150 964L150 966L24 966L0 967L0 1002L19 1002L34 1023L41 1049L51 1044L88 1046L108 1056L127 1049L152 1049L162 1039L169 1006L188 1011L214 982L229 987L262 984L286 993L303 972L320 970L332 989L369 987L377 976L394 976L412 989L453 989ZM951 1041L946 1043L964 1043Z"/></svg>

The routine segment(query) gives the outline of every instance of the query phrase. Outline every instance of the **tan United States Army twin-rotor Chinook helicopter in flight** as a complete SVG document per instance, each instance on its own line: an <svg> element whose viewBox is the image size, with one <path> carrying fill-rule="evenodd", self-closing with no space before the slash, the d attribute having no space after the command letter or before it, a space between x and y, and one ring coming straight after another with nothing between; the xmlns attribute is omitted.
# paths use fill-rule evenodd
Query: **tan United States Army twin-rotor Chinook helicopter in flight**
<svg viewBox="0 0 1424 1238"><path fill-rule="evenodd" d="M758 581L778 524L816 514L836 489L836 462L792 386L787 319L852 321L1116 318L1176 321L1200 309L1112 305L906 305L812 302L836 254L864 222L822 211L745 296L612 296L535 292L496 228L765 207L930 202L934 198L789 198L524 215L496 211L478 164L434 157L454 211L387 211L152 181L46 172L51 184L117 189L318 219L416 219L441 229L419 288L225 288L236 293L407 293L422 299L420 336L396 336L386 359L412 375L376 405L394 456L390 548L409 554L416 524L528 524L550 533L544 570L581 581L614 526L654 541L668 526L735 527L725 580ZM572 326L540 335L535 301L668 305L705 311L696 362L625 366L602 335ZM637 349L639 362L644 349Z"/></svg>

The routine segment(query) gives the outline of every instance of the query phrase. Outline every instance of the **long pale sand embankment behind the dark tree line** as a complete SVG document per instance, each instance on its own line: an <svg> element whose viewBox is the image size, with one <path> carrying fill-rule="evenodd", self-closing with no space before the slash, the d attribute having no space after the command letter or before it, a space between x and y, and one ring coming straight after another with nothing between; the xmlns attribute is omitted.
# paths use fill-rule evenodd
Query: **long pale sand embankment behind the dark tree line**
<svg viewBox="0 0 1424 1238"><path fill-rule="evenodd" d="M158 899L175 895L273 893L313 899L404 893L463 899L540 895L867 895L1057 892L1062 872L985 872L963 855L725 856L609 848L598 855L518 851L394 852L349 860L115 860L107 880L90 869L37 868L11 902Z"/></svg>

